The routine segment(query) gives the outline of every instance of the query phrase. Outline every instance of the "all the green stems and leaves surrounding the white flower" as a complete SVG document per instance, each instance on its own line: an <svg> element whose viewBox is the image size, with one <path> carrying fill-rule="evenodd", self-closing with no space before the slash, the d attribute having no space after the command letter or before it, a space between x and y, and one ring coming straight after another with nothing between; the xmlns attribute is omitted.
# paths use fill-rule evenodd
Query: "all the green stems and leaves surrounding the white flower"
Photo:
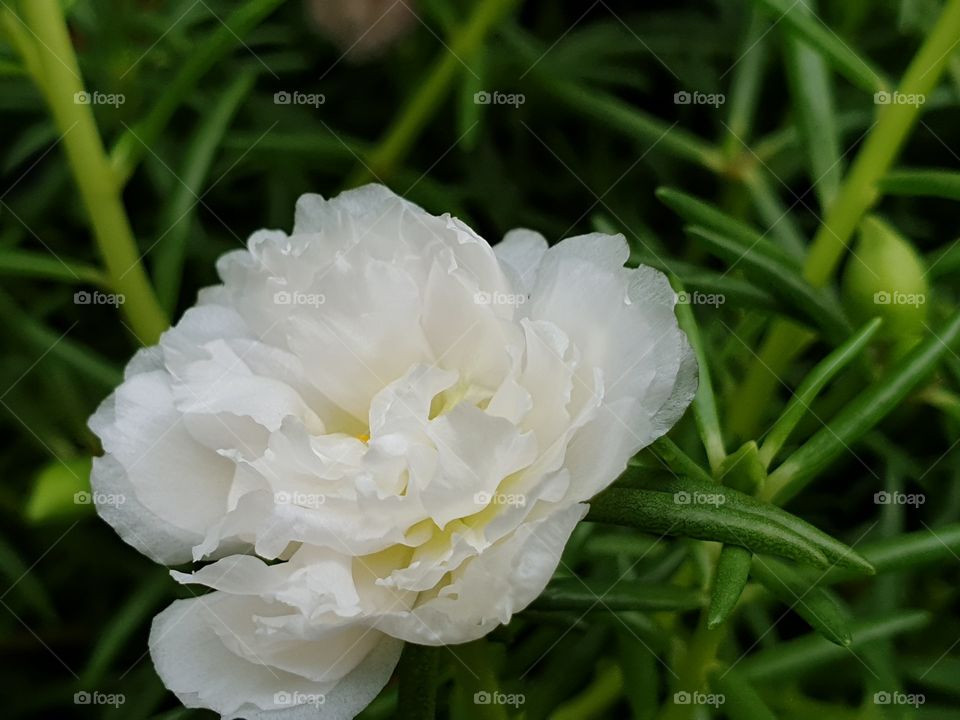
<svg viewBox="0 0 960 720"><path fill-rule="evenodd" d="M220 254L289 228L304 192L371 179L491 241L624 233L692 298L701 389L534 606L407 657L421 695L395 680L363 717L428 717L422 692L450 718L960 717L960 3L421 0L363 63L298 0L63 3L77 87L116 106L73 102L51 7L0 3L5 717L210 715L146 656L186 591L74 501L99 452L86 419ZM896 88L922 104L878 103ZM868 212L894 261L856 244ZM137 256L140 279L111 265ZM128 302L75 301L94 290ZM676 492L725 502L694 519ZM497 688L523 704L474 704ZM95 689L126 702L74 703Z"/></svg>

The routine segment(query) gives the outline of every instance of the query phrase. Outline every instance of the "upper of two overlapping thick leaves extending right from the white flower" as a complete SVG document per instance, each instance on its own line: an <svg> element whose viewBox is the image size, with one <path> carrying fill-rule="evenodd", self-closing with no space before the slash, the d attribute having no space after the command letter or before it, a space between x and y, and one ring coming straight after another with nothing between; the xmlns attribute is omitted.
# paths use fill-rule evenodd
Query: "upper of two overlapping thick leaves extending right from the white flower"
<svg viewBox="0 0 960 720"><path fill-rule="evenodd" d="M795 515L769 503L758 500L732 488L712 483L698 482L692 478L675 478L666 475L647 473L644 482L646 486L656 491L678 494L685 493L690 500L695 499L695 493L703 496L717 495L722 498L718 506L724 512L736 512L745 517L753 518L758 523L765 523L771 527L779 527L785 533L802 540L809 547L815 548L818 553L828 558L831 563L841 567L857 570L861 573L873 574L873 567L859 553L832 538L813 525L801 520ZM682 506L681 506L682 507ZM743 543L734 542L734 545ZM746 546L745 546L746 547ZM790 557L785 555L785 557ZM796 559L796 558L793 558Z"/></svg>

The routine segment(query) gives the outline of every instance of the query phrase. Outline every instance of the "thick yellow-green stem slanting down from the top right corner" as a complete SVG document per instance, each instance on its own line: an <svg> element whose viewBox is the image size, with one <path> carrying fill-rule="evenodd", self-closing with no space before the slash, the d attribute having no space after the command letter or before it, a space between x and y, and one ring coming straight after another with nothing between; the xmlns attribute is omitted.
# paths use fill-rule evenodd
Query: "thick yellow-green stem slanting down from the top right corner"
<svg viewBox="0 0 960 720"><path fill-rule="evenodd" d="M926 96L935 88L950 53L960 40L960 0L950 0L932 32L907 68L900 92ZM814 286L826 285L843 257L864 213L877 201L877 182L887 173L920 116L918 104L879 106L876 125L830 205L803 267ZM767 406L779 376L810 344L813 336L787 321L773 324L758 357L731 403L729 430L739 437L752 436L760 413Z"/></svg>

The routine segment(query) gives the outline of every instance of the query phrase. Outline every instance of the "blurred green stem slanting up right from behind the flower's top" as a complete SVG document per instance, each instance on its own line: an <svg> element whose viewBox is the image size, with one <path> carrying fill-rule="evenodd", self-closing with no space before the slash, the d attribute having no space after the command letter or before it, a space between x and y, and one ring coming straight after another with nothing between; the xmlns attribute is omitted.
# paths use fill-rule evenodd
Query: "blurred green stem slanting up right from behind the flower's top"
<svg viewBox="0 0 960 720"><path fill-rule="evenodd" d="M439 107L457 73L463 69L464 61L474 55L490 30L513 9L517 1L483 0L476 6L466 24L451 39L449 47L444 47L423 84L400 112L386 136L364 159L364 164L348 178L348 187L355 187L371 178L386 178L393 173Z"/></svg>

